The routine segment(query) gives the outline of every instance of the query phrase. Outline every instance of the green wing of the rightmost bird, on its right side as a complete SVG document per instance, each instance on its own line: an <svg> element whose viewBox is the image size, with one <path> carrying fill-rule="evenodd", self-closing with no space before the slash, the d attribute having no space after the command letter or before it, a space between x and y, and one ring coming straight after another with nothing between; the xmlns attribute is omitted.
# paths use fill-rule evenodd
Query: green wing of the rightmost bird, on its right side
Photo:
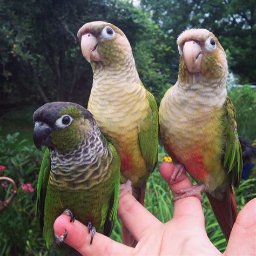
<svg viewBox="0 0 256 256"><path fill-rule="evenodd" d="M228 96L223 107L224 132L226 136L224 167L231 174L232 184L238 187L242 174L242 150L237 133L235 107Z"/></svg>

